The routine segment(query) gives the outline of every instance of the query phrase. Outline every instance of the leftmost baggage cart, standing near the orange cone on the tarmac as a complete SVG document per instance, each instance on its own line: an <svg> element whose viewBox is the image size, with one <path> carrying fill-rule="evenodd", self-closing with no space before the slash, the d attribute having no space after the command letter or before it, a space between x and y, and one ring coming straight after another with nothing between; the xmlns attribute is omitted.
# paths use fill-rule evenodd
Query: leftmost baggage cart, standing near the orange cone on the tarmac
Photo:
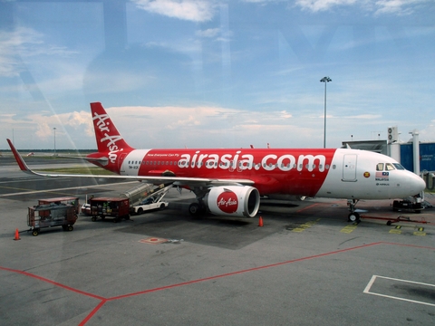
<svg viewBox="0 0 435 326"><path fill-rule="evenodd" d="M73 231L76 220L75 206L62 203L29 207L27 215L27 225L34 236L44 227L62 226L63 231Z"/></svg>

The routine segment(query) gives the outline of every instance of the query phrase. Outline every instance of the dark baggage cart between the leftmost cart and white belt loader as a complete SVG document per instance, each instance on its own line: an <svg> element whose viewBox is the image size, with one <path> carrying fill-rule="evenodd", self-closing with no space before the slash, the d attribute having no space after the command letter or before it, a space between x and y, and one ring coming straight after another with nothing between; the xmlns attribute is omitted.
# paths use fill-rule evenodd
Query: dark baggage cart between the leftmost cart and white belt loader
<svg viewBox="0 0 435 326"><path fill-rule="evenodd" d="M91 198L91 216L92 222L98 217L105 219L111 217L114 223L122 219L130 219L130 199L121 197L99 197Z"/></svg>

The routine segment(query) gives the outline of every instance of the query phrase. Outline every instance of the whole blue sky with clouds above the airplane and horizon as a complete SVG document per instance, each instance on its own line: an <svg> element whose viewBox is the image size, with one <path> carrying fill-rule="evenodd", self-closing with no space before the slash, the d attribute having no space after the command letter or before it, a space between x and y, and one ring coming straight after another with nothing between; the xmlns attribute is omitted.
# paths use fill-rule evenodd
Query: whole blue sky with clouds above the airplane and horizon
<svg viewBox="0 0 435 326"><path fill-rule="evenodd" d="M0 0L0 149L435 141L434 76L433 0Z"/></svg>

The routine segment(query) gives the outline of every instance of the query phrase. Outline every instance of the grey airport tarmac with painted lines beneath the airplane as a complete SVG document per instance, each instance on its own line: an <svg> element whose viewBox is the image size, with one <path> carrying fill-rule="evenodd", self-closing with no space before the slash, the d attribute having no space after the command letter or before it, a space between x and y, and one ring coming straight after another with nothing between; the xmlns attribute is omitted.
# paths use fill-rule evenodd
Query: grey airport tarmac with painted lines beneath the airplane
<svg viewBox="0 0 435 326"><path fill-rule="evenodd" d="M174 188L168 208L130 221L81 215L73 232L25 232L39 198L82 203L134 185L0 167L2 325L435 323L435 208L362 201L356 225L345 200L265 200L258 226L258 216L193 218L194 196ZM386 225L397 216L411 222Z"/></svg>

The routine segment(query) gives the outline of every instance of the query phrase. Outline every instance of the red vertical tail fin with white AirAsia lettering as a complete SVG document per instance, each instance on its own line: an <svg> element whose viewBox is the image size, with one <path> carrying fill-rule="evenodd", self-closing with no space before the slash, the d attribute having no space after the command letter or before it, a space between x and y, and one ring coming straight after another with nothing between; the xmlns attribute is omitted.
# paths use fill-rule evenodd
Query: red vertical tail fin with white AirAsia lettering
<svg viewBox="0 0 435 326"><path fill-rule="evenodd" d="M91 103L91 112L95 138L100 153L132 149L116 129L115 124L102 107L102 103Z"/></svg>

